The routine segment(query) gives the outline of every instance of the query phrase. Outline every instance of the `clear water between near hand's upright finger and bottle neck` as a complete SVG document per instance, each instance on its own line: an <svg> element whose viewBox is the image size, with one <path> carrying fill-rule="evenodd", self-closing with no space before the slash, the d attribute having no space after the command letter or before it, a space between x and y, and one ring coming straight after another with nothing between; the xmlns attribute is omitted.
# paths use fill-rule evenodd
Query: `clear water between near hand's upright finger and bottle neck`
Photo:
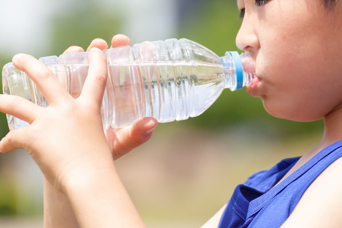
<svg viewBox="0 0 342 228"><path fill-rule="evenodd" d="M199 61L141 62L109 65L113 99L111 126L131 126L143 117L159 122L200 115L224 89L219 64Z"/></svg>

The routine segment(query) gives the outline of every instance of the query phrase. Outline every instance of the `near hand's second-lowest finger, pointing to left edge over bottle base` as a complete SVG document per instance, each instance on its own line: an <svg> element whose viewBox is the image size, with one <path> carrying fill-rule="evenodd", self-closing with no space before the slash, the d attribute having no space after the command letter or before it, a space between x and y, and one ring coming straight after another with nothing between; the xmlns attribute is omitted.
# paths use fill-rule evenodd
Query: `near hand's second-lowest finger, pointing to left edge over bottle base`
<svg viewBox="0 0 342 228"><path fill-rule="evenodd" d="M43 108L19 96L0 94L0 111L31 124Z"/></svg>

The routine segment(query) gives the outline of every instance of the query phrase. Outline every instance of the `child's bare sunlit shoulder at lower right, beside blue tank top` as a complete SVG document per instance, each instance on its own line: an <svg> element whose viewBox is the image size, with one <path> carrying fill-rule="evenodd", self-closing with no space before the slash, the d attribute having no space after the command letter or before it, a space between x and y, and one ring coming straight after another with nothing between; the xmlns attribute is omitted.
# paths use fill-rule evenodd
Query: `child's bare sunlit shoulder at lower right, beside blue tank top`
<svg viewBox="0 0 342 228"><path fill-rule="evenodd" d="M342 158L333 162L307 188L281 228L341 227Z"/></svg>

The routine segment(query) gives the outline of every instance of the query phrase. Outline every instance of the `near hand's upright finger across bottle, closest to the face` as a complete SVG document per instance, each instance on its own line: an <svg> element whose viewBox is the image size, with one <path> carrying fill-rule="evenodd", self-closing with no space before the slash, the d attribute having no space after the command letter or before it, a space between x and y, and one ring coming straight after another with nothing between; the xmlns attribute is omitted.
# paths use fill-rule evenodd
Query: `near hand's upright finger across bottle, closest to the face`
<svg viewBox="0 0 342 228"><path fill-rule="evenodd" d="M101 106L103 93L107 82L107 59L98 48L89 51L89 70L80 97L95 100Z"/></svg>

